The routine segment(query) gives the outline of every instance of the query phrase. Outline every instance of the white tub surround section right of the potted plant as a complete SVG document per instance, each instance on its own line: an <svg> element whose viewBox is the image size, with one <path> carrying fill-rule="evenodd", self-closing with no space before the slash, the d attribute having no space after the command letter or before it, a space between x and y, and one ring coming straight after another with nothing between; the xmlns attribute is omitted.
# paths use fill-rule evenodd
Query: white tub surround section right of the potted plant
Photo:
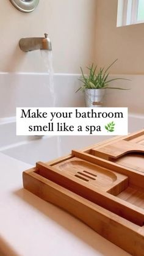
<svg viewBox="0 0 144 256"><path fill-rule="evenodd" d="M112 75L110 78L128 78L130 81L113 81L110 86L130 90L107 89L105 105L107 107L126 107L129 113L144 114L143 84L144 75ZM144 124L143 124L144 125Z"/></svg>

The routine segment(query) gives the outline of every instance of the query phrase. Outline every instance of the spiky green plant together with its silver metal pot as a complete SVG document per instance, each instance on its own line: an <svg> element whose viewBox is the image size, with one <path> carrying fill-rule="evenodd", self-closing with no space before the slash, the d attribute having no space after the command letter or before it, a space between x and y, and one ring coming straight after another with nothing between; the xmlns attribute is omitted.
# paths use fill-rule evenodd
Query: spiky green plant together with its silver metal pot
<svg viewBox="0 0 144 256"><path fill-rule="evenodd" d="M125 78L109 79L109 68L112 67L112 65L117 60L118 59L113 61L112 64L110 64L109 67L106 69L99 68L99 70L97 70L97 65L94 66L94 64L92 64L90 67L87 67L89 71L88 75L84 75L84 72L81 68L82 78L79 80L82 82L82 86L76 92L78 92L79 90L84 90L86 107L101 107L103 105L103 98L106 89L129 90L120 87L109 87L109 83L112 81L119 79L129 80Z"/></svg>

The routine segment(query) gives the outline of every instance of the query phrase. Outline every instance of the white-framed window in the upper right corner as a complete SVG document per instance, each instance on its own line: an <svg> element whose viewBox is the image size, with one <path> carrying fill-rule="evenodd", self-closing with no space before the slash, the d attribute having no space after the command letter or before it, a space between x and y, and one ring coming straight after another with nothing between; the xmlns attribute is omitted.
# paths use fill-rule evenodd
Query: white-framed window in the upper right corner
<svg viewBox="0 0 144 256"><path fill-rule="evenodd" d="M144 0L118 0L117 26L144 23Z"/></svg>

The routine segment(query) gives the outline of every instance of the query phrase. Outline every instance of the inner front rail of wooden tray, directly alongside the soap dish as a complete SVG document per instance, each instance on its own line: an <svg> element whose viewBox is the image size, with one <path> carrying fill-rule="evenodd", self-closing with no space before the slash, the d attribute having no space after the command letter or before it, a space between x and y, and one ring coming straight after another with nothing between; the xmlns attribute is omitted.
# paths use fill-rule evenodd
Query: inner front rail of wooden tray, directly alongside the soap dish
<svg viewBox="0 0 144 256"><path fill-rule="evenodd" d="M122 216L137 225L142 226L144 223L144 210L139 207L131 205L131 203L124 202L111 194L108 194L98 189L90 189L82 181L76 181L74 177L69 177L67 174L61 174L54 167L48 166L45 163L37 163L38 174L48 178L64 188L84 197L85 199L94 202L101 207L106 208L113 213Z"/></svg>

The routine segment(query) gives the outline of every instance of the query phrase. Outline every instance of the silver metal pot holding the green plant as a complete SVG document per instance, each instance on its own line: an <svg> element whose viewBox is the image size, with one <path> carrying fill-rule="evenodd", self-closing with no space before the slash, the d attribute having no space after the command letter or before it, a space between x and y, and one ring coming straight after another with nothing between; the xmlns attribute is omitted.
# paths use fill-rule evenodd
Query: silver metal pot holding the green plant
<svg viewBox="0 0 144 256"><path fill-rule="evenodd" d="M85 106L88 108L100 108L103 106L103 98L106 89L85 89Z"/></svg>

